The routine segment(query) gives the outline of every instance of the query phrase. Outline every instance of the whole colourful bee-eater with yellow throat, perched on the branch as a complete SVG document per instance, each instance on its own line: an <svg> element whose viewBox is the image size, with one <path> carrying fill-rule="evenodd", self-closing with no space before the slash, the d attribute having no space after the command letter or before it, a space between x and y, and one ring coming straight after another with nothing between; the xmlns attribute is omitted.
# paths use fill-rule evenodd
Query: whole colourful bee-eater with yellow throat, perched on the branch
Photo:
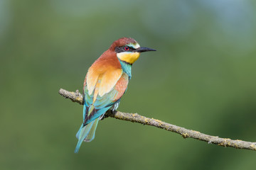
<svg viewBox="0 0 256 170"><path fill-rule="evenodd" d="M127 91L132 78L132 64L140 53L156 51L149 47L140 47L133 38L119 38L88 69L83 84L83 121L76 137L78 153L82 142L91 142L95 130L106 111L117 111L121 97Z"/></svg>

